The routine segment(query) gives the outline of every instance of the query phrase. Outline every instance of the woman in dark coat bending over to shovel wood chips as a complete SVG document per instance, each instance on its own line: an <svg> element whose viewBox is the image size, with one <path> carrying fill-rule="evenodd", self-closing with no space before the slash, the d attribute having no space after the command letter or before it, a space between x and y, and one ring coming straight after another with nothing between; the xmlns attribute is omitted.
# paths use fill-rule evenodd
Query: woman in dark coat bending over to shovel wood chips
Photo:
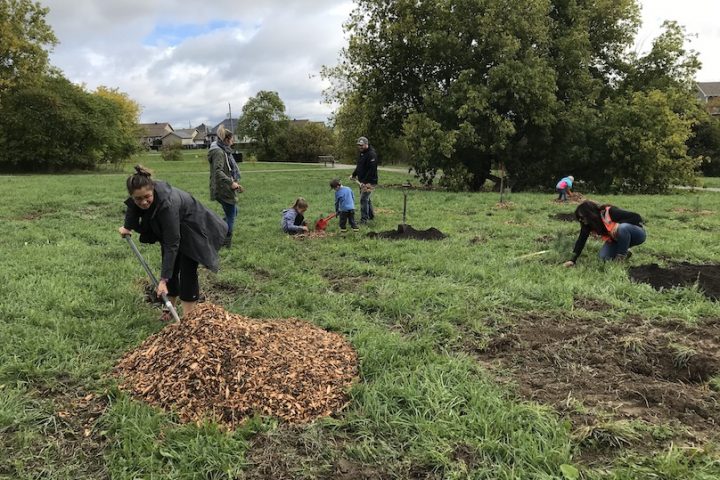
<svg viewBox="0 0 720 480"><path fill-rule="evenodd" d="M187 192L153 180L141 165L127 179L130 198L125 200L125 223L120 235L140 234L142 243L160 242L162 270L157 287L175 300L180 296L183 316L190 313L200 295L197 267L218 270L218 250L227 233L225 222ZM169 320L169 312L163 314Z"/></svg>

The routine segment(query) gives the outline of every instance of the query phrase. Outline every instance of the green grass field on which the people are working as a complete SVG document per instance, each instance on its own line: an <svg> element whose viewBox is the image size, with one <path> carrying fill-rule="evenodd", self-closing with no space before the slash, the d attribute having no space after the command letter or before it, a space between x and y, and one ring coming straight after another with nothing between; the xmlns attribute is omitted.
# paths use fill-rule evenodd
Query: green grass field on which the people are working
<svg viewBox="0 0 720 480"><path fill-rule="evenodd" d="M219 213L207 200L205 158L194 155L142 161ZM180 424L119 391L110 377L116 361L163 327L143 301L142 269L117 235L130 165L4 176L0 478L720 478L712 413L704 423L688 420L699 407L673 412L669 397L657 402L655 416L604 406L598 391L611 378L555 385L550 394L548 378L585 378L592 362L580 357L609 356L621 344L621 353L634 355L672 337L675 361L689 365L714 341L698 332L717 332L720 318L720 305L697 288L658 292L628 280L627 265L601 264L598 242L588 243L576 268L562 268L578 227L549 218L571 211L550 193L512 194L501 208L493 193L413 190L408 223L449 237L390 242L366 237L401 219L403 192L380 188L375 225L296 240L279 232L281 210L303 195L310 219L330 213L327 183L347 170L241 170L246 192L234 245L222 251L217 276L201 277L202 288L233 312L298 317L345 334L361 374L348 407L311 425L254 418L225 432L210 422ZM404 180L381 172L383 183ZM720 258L720 194L599 200L647 220L648 241L631 265ZM336 230L336 223L329 228ZM159 248L141 249L157 268ZM549 252L517 258L541 250ZM527 348L513 353L503 339ZM543 350L545 340L559 340L555 351ZM534 365L544 374L523 375ZM550 383L533 386L541 379ZM595 396L584 394L593 384ZM693 387L653 385L668 395ZM693 392L713 389L720 389L717 372Z"/></svg>

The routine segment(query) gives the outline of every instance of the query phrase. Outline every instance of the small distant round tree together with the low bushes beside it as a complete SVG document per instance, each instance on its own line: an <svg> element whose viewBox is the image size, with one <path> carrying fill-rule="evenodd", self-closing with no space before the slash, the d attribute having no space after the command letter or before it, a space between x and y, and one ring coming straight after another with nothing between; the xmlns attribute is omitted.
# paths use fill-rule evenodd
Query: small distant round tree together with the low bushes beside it
<svg viewBox="0 0 720 480"><path fill-rule="evenodd" d="M333 132L324 124L291 122L277 92L262 90L243 106L236 129L255 140L261 161L315 162L333 150Z"/></svg>

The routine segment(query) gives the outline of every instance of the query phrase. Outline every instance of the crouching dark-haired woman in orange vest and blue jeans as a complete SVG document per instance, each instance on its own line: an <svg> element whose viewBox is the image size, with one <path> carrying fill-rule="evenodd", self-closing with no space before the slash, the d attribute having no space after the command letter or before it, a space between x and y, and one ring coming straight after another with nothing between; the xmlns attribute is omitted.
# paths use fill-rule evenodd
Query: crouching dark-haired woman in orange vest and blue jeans
<svg viewBox="0 0 720 480"><path fill-rule="evenodd" d="M580 235L575 242L572 259L564 263L566 267L575 265L590 233L599 235L605 241L600 249L600 258L603 260L625 260L632 255L630 247L645 241L643 219L635 212L611 205L598 205L588 200L575 209L575 218L581 225Z"/></svg>

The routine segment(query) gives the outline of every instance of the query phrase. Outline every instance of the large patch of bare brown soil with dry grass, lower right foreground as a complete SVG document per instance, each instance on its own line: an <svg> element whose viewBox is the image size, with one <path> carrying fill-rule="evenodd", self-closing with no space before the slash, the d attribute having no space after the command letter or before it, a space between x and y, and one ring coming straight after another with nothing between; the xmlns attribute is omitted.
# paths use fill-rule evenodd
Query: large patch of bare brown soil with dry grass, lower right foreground
<svg viewBox="0 0 720 480"><path fill-rule="evenodd" d="M720 393L706 382L720 374L720 320L688 327L531 316L470 347L523 397L568 415L581 445L604 438L606 447L664 446L649 435L603 437L608 418L680 423L687 431L674 440L691 445L718 436Z"/></svg>

